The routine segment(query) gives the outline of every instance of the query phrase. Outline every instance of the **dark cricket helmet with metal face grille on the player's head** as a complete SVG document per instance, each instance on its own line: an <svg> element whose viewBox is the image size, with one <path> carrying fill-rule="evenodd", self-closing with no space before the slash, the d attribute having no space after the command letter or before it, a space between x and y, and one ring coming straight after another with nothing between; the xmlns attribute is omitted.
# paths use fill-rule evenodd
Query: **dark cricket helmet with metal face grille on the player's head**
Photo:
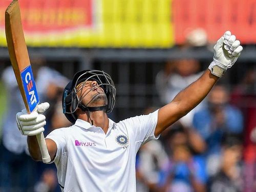
<svg viewBox="0 0 256 192"><path fill-rule="evenodd" d="M78 97L77 93L81 91L83 87L79 86L79 84L85 83L88 80L97 81L98 85L96 87L101 87L104 90L106 98L108 99L108 104L103 106L90 107L87 105L91 101L87 103L87 105L81 103L81 100L85 95L81 95L80 97ZM80 108L84 112L105 111L106 113L110 113L115 105L115 97L116 88L111 76L108 73L99 70L79 71L74 75L73 80L67 84L66 88L63 91L63 113L65 114L67 119L72 123L75 123L77 119L75 111L78 108Z"/></svg>

